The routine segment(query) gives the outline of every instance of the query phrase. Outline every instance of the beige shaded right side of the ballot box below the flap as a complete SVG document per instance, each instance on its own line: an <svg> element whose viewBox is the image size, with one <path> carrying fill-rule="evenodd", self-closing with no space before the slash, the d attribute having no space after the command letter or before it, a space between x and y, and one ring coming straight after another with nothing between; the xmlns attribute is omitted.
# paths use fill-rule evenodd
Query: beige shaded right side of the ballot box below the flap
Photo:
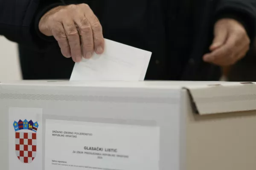
<svg viewBox="0 0 256 170"><path fill-rule="evenodd" d="M199 115L183 91L186 142L182 170L255 170L256 112Z"/></svg>

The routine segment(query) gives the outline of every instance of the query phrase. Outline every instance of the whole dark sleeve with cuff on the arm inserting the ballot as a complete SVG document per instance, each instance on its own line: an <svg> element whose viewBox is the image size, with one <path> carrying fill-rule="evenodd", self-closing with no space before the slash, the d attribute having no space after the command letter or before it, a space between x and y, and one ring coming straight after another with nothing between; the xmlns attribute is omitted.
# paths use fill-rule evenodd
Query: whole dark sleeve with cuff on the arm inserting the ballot
<svg viewBox="0 0 256 170"><path fill-rule="evenodd" d="M62 5L61 0L0 0L0 35L35 51L45 51L51 42L44 40L35 26L44 10Z"/></svg>

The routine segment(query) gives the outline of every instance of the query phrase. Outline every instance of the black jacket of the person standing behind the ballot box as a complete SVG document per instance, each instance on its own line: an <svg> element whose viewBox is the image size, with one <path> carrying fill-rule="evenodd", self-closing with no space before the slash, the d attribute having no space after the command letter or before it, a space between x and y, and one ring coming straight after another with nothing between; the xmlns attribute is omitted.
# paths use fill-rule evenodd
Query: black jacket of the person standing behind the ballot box
<svg viewBox="0 0 256 170"><path fill-rule="evenodd" d="M145 79L209 81L218 80L221 75L219 67L202 60L212 43L214 23L222 17L235 18L244 24L254 40L256 4L253 1L64 0L64 3L88 3L99 17L105 38L151 51ZM0 34L20 44L24 79L70 78L72 59L64 58L58 43L38 31L41 16L50 8L63 5L62 2L40 0L32 16L23 13L34 12L36 5L16 8L20 16L30 16L29 22L22 27L20 23L11 26L9 30L0 28ZM6 20L0 22L5 24ZM13 28L17 28L16 34Z"/></svg>

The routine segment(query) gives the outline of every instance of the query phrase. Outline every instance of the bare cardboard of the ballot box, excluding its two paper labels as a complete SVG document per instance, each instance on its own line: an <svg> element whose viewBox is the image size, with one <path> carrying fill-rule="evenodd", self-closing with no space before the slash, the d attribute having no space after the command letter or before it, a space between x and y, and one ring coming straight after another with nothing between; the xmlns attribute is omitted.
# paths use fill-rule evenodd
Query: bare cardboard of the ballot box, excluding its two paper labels
<svg viewBox="0 0 256 170"><path fill-rule="evenodd" d="M255 96L240 82L0 83L0 164L9 108L42 108L43 120L159 127L159 170L255 170Z"/></svg>

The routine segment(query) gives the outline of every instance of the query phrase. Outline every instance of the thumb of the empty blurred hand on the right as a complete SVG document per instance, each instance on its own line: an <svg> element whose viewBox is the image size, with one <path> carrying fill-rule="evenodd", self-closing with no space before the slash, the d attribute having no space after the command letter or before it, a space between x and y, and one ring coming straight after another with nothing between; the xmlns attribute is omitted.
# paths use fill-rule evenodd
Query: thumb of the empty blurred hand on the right
<svg viewBox="0 0 256 170"><path fill-rule="evenodd" d="M212 45L210 46L210 51L214 51L215 49L219 48L227 40L227 33L228 33L227 28L217 26L215 27L214 32L215 32L215 37L212 42Z"/></svg>

